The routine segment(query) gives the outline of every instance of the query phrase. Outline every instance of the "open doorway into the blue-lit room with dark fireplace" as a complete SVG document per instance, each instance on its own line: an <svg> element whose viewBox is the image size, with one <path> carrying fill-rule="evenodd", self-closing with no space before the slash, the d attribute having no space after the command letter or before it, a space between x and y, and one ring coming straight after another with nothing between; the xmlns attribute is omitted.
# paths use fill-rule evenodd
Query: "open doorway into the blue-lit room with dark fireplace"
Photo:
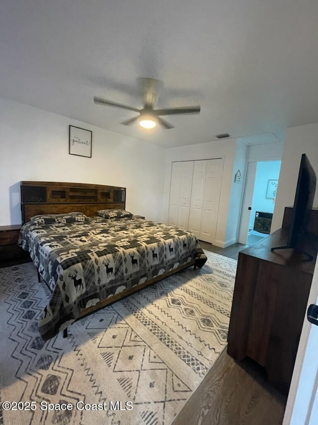
<svg viewBox="0 0 318 425"><path fill-rule="evenodd" d="M253 245L270 233L281 161L247 163L238 242Z"/></svg>

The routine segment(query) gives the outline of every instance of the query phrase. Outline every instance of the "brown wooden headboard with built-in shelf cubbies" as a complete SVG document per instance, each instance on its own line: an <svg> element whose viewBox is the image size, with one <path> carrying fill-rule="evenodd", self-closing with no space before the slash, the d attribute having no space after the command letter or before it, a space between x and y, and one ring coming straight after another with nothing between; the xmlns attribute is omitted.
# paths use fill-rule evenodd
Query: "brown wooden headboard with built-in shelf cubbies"
<svg viewBox="0 0 318 425"><path fill-rule="evenodd" d="M22 223L38 214L80 211L93 217L98 210L124 210L126 188L101 184L21 181Z"/></svg>

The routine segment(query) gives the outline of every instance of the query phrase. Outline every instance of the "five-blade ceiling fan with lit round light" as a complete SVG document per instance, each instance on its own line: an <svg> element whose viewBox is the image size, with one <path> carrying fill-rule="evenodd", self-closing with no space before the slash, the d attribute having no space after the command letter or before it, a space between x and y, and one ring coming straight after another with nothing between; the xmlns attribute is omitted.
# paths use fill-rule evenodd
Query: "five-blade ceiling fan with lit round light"
<svg viewBox="0 0 318 425"><path fill-rule="evenodd" d="M160 80L155 78L142 77L138 79L143 89L142 109L133 108L131 106L122 105L121 103L112 102L110 100L94 97L94 103L98 105L114 106L116 108L128 109L129 111L139 112L139 115L122 122L124 126L131 126L139 122L141 127L145 129L154 128L157 123L165 130L173 129L171 124L161 118L161 115L182 115L182 114L199 114L200 106L189 106L180 108L154 109L159 95L159 88L162 84Z"/></svg>

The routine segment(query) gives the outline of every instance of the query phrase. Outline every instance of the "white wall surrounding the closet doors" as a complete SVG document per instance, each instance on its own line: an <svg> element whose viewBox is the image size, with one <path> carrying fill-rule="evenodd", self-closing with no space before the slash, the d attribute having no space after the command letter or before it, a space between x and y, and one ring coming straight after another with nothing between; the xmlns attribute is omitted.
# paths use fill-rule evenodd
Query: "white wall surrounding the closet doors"
<svg viewBox="0 0 318 425"><path fill-rule="evenodd" d="M224 158L221 198L217 223L216 240L217 244L224 247L226 243L226 231L228 224L228 211L232 188L233 166L235 159L237 142L236 139L227 139L222 142L207 142L179 146L166 149L166 165L164 180L164 222L168 220L171 167L174 161L188 161L196 159Z"/></svg>

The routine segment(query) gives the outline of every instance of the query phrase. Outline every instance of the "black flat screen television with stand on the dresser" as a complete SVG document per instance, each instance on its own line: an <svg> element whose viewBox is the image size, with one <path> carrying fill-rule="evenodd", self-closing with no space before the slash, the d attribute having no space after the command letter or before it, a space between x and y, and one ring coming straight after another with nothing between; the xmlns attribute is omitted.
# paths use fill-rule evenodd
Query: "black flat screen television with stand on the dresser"
<svg viewBox="0 0 318 425"><path fill-rule="evenodd" d="M307 233L307 226L313 208L316 192L316 174L309 162L306 153L302 154L300 162L292 220L290 224L287 244L282 247L271 248L271 251L293 248L294 250L305 254L309 260L313 256L300 249L300 243L304 234Z"/></svg>

